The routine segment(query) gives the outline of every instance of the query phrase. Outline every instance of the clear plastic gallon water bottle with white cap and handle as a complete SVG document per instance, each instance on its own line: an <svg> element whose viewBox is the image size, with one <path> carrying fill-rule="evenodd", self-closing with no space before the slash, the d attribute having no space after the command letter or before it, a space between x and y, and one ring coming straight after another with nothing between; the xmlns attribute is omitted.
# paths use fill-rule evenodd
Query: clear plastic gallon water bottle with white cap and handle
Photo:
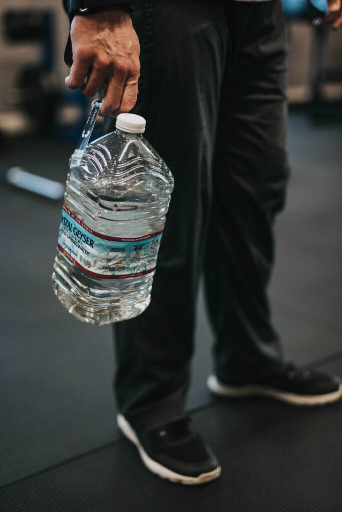
<svg viewBox="0 0 342 512"><path fill-rule="evenodd" d="M149 305L173 189L170 169L143 137L143 117L120 114L113 133L87 145L99 106L70 158L52 274L61 303L94 325Z"/></svg>

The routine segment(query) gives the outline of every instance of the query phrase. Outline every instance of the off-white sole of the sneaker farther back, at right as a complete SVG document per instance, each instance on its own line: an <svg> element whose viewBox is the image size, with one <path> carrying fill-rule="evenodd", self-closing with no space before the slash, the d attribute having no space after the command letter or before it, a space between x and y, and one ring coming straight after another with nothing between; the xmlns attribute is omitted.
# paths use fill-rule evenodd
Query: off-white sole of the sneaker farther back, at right
<svg viewBox="0 0 342 512"><path fill-rule="evenodd" d="M275 398L293 406L324 406L337 401L342 396L342 383L338 390L325 395L297 395L286 391L276 391L274 388L261 385L229 386L220 382L216 375L210 375L207 380L209 390L223 398L245 398L248 396L266 396Z"/></svg>

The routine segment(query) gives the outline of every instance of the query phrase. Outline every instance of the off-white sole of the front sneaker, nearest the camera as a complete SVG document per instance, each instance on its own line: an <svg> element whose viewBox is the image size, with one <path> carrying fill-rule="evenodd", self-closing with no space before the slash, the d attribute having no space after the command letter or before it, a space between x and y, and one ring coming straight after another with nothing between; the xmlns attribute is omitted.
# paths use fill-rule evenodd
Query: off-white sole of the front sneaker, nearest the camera
<svg viewBox="0 0 342 512"><path fill-rule="evenodd" d="M127 439L129 439L135 446L139 452L140 458L143 461L143 464L147 467L155 475L158 475L160 478L164 478L170 480L171 482L182 483L186 485L199 485L206 482L210 482L215 478L218 478L221 474L221 468L218 466L214 471L210 471L209 473L203 473L198 477L189 477L186 475L179 475L174 471L169 470L167 467L159 464L155 460L151 459L151 457L146 453L144 447L139 442L138 436L135 431L132 429L129 422L122 414L117 415L117 426L120 431L123 433Z"/></svg>

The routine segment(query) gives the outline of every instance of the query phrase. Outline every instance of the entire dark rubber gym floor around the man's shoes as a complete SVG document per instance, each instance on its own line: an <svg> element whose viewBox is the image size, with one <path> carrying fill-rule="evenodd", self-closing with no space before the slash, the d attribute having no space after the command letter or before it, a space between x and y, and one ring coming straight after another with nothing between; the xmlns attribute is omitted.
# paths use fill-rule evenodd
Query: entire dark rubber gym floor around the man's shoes
<svg viewBox="0 0 342 512"><path fill-rule="evenodd" d="M341 140L342 122L290 113L292 177L270 286L288 359L340 377ZM64 182L73 148L56 137L12 139L0 164ZM62 201L8 185L0 197L1 511L342 511L342 402L296 408L212 398L202 289L187 407L222 476L188 487L150 474L116 428L111 327L78 322L52 292Z"/></svg>

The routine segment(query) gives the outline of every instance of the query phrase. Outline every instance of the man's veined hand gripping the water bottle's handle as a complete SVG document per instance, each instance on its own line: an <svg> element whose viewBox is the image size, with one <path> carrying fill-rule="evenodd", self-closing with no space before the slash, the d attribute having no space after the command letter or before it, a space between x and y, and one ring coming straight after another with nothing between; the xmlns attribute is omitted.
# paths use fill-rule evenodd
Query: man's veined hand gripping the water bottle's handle
<svg viewBox="0 0 342 512"><path fill-rule="evenodd" d="M73 65L67 86L94 96L105 84L100 115L129 112L138 94L140 47L128 13L108 9L76 15L70 36Z"/></svg>

